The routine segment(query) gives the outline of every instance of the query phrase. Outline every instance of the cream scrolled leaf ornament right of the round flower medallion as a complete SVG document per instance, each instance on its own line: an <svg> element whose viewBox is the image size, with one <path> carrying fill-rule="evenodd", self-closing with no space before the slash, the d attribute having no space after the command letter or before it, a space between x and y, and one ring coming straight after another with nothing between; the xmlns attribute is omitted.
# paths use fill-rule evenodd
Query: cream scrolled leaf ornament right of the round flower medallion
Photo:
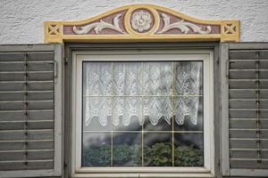
<svg viewBox="0 0 268 178"><path fill-rule="evenodd" d="M209 34L212 31L210 26L206 26L206 30L202 30L202 28L196 24L184 20L171 23L170 16L165 13L161 13L161 17L163 18L163 28L158 31L157 34L163 34L164 32L173 28L180 29L181 33L183 34L188 34L190 29L197 34Z"/></svg>

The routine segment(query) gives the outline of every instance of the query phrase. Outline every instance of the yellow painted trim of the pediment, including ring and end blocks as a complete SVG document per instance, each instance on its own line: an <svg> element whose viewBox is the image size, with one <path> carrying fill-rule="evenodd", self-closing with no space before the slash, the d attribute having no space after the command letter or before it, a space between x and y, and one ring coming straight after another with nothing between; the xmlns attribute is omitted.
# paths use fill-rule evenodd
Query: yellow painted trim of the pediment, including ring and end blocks
<svg viewBox="0 0 268 178"><path fill-rule="evenodd" d="M146 9L151 12L155 23L146 33L138 33L130 27L131 12L137 9ZM63 35L64 26L78 26L100 20L106 16L117 12L126 11L123 19L123 25L128 35ZM188 20L197 24L218 25L220 34L178 34L165 35L155 34L159 27L160 17L158 12L166 12L183 20ZM239 20L198 20L189 17L180 12L173 11L165 7L153 4L131 4L116 8L112 11L102 13L96 17L79 21L45 21L44 23L44 41L45 43L63 43L63 42L94 42L94 43L131 43L131 42L201 42L201 41L221 41L221 42L239 42Z"/></svg>

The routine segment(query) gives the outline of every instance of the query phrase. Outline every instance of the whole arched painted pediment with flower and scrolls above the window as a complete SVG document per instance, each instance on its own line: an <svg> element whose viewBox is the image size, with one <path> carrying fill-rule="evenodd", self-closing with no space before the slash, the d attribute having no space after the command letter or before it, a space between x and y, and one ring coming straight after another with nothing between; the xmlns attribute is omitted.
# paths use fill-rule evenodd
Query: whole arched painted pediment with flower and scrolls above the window
<svg viewBox="0 0 268 178"><path fill-rule="evenodd" d="M171 9L135 4L88 20L46 21L45 43L239 42L239 20L197 20Z"/></svg>

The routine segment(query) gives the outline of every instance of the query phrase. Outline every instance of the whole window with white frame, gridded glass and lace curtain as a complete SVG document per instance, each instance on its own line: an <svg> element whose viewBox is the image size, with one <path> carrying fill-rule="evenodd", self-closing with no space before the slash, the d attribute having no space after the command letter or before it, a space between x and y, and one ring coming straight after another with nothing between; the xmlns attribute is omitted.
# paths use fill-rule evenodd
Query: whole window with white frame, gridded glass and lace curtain
<svg viewBox="0 0 268 178"><path fill-rule="evenodd" d="M210 51L73 59L73 171L213 172Z"/></svg>

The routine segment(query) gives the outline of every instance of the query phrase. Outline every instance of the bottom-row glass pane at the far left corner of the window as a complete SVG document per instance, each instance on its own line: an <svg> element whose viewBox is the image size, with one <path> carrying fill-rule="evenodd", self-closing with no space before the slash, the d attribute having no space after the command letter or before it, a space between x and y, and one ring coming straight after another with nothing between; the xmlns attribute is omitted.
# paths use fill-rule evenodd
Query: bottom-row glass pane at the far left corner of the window
<svg viewBox="0 0 268 178"><path fill-rule="evenodd" d="M82 166L111 166L111 134L84 133Z"/></svg>

